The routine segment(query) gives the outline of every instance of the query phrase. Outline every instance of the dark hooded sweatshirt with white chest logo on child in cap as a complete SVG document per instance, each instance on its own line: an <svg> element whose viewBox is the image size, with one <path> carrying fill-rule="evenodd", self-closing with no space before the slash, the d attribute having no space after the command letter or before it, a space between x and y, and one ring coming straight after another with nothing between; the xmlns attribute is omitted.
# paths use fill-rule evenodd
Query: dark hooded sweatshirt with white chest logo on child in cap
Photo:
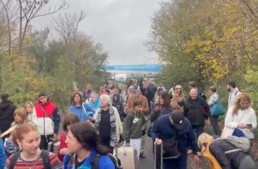
<svg viewBox="0 0 258 169"><path fill-rule="evenodd" d="M123 128L125 140L139 139L142 135L142 130L147 129L147 120L142 112L130 112L127 114Z"/></svg>

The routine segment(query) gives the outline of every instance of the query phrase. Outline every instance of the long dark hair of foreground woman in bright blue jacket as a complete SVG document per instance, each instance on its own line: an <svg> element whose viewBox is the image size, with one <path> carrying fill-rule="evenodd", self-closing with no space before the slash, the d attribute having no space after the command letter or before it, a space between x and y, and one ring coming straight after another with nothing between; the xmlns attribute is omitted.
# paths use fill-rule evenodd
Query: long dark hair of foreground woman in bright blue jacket
<svg viewBox="0 0 258 169"><path fill-rule="evenodd" d="M95 149L98 154L106 155L109 153L109 149L100 144L95 129L88 123L74 123L71 125L70 131L76 140L88 151Z"/></svg>

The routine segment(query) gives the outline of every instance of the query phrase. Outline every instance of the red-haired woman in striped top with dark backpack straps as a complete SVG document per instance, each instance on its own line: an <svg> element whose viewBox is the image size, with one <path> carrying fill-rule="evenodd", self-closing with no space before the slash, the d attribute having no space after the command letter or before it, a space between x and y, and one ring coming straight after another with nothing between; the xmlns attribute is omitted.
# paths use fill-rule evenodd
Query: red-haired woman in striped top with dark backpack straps
<svg viewBox="0 0 258 169"><path fill-rule="evenodd" d="M62 169L58 157L40 150L40 137L35 126L22 124L11 133L12 141L22 152L10 156L4 169Z"/></svg>

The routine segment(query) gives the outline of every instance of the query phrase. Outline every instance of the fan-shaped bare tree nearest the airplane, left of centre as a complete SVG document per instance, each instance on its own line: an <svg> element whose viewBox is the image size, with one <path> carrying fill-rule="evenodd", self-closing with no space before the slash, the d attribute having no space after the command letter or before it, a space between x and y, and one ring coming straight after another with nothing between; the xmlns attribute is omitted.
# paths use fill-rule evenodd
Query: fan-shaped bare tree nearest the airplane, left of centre
<svg viewBox="0 0 258 169"><path fill-rule="evenodd" d="M79 36L78 25L86 17L83 11L80 13L74 12L73 14L65 13L60 14L58 17L54 18L51 26L57 32L57 34L64 39L67 56L71 65L71 71L74 72L74 49Z"/></svg>

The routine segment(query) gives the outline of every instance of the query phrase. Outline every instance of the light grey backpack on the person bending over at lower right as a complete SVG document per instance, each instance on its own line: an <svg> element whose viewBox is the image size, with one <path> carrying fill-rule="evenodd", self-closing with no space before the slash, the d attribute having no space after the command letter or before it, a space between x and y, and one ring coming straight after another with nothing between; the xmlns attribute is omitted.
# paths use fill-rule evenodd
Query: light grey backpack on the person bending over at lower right
<svg viewBox="0 0 258 169"><path fill-rule="evenodd" d="M224 140L228 141L229 143L237 147L237 149L226 151L225 154L237 151L249 152L251 150L251 141L248 138L228 136Z"/></svg>

